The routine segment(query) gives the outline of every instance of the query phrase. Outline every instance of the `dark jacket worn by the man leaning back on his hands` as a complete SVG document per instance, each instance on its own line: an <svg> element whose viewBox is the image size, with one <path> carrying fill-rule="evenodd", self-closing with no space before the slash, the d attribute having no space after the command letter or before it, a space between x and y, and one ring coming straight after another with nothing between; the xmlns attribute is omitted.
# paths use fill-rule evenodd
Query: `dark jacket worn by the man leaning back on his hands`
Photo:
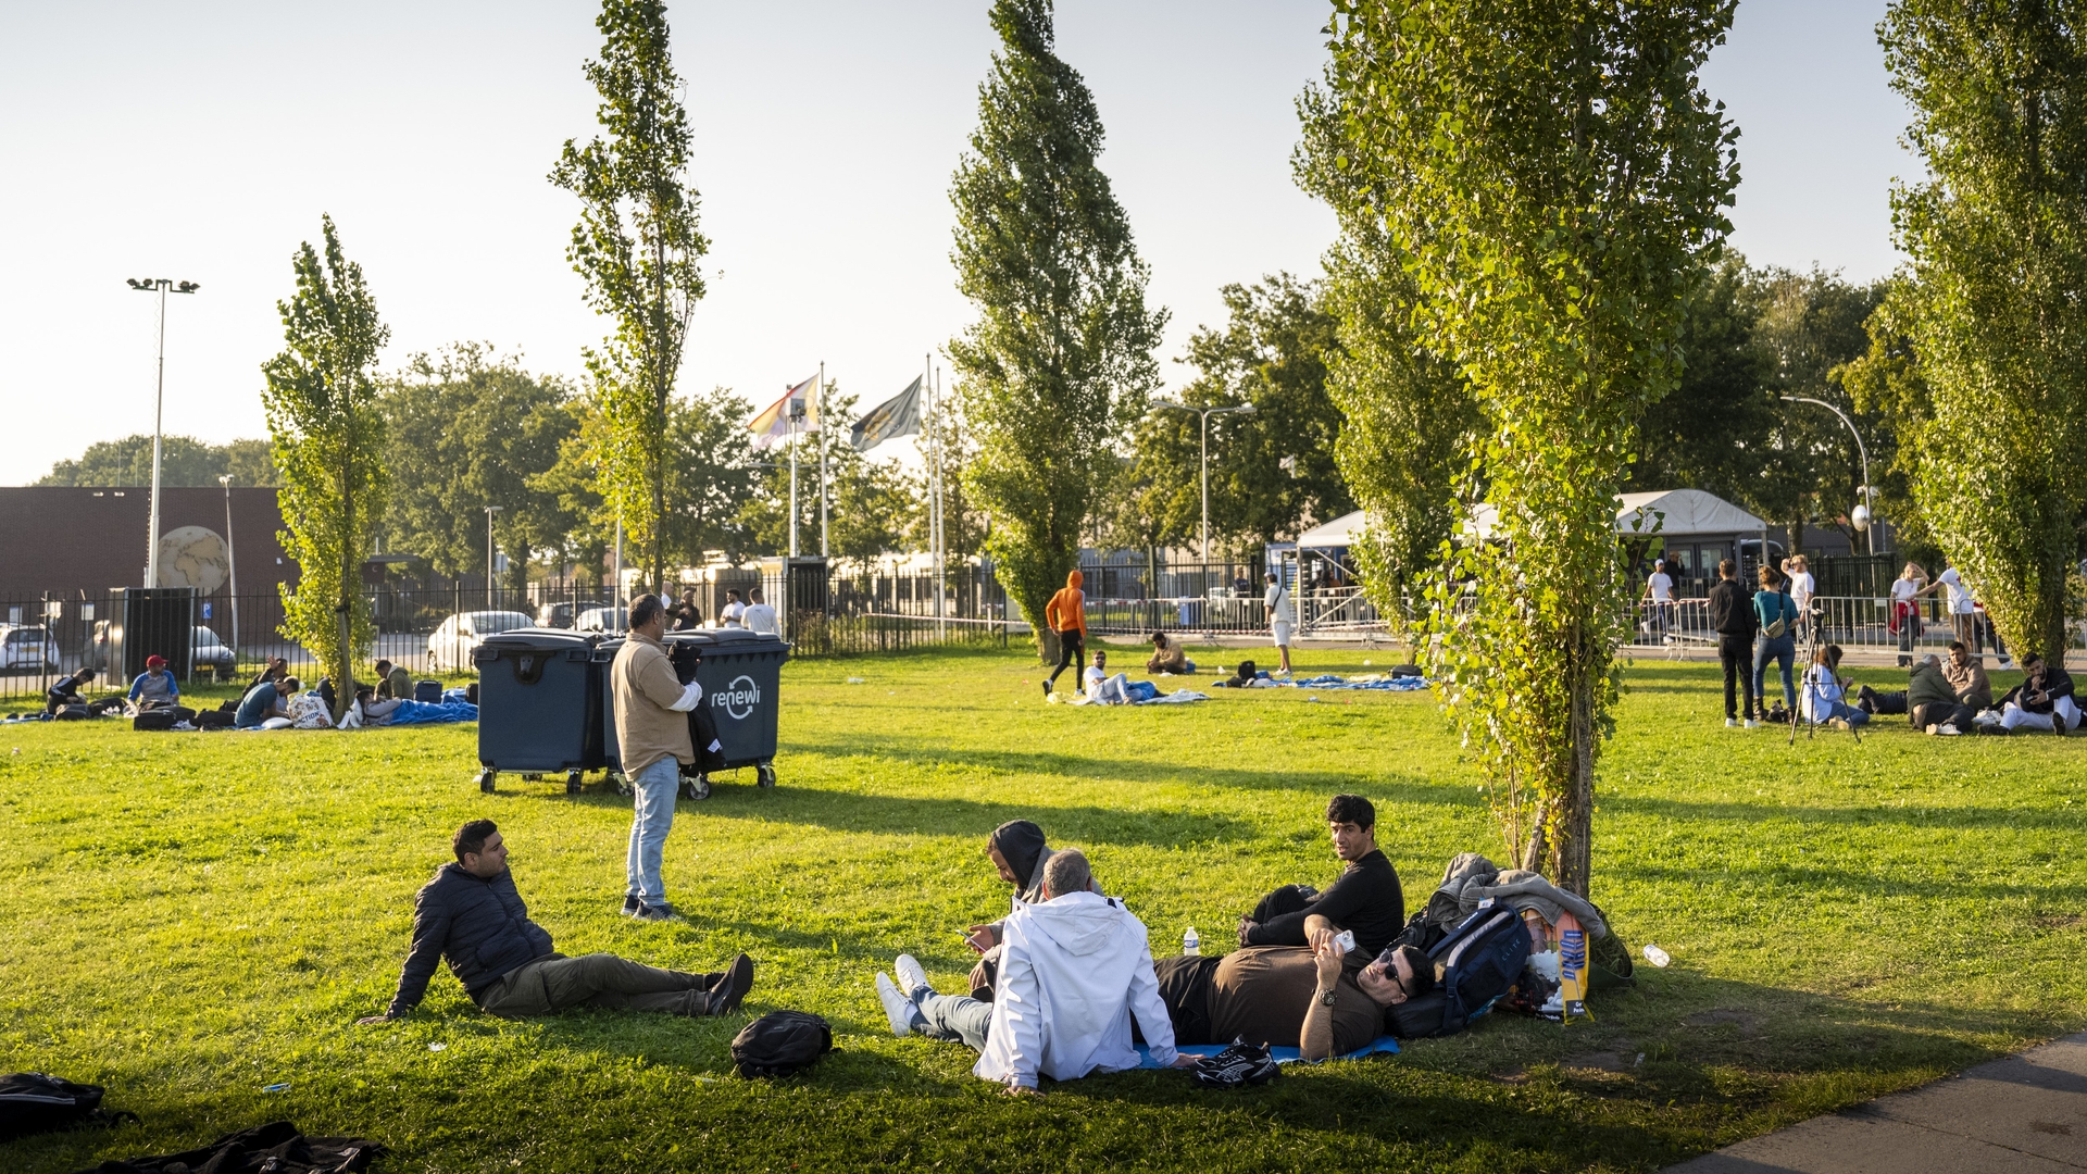
<svg viewBox="0 0 2087 1174"><path fill-rule="evenodd" d="M463 990L478 996L507 971L551 953L551 934L528 919L511 871L480 879L449 863L413 898L413 948L399 976L390 1015L419 1007L436 959L449 961Z"/></svg>

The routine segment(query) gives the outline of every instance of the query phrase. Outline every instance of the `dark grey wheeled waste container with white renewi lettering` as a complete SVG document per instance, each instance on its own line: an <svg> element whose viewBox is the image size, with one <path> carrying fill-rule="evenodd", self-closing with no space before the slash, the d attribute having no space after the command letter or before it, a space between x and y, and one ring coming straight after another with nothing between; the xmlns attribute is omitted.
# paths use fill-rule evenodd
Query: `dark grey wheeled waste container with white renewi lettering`
<svg viewBox="0 0 2087 1174"><path fill-rule="evenodd" d="M666 633L668 652L674 643L689 641L703 650L703 664L695 679L703 685L701 708L716 723L718 742L724 744L724 769L753 767L755 785L776 785L776 702L781 700L783 662L789 648L783 637L753 633L747 629L695 629ZM601 643L605 660L616 660L622 639ZM616 752L616 689L603 677L601 746L603 760L620 771L622 758ZM695 733L697 717L689 714L689 742L701 750ZM707 798L710 777L695 769L682 771L682 796Z"/></svg>

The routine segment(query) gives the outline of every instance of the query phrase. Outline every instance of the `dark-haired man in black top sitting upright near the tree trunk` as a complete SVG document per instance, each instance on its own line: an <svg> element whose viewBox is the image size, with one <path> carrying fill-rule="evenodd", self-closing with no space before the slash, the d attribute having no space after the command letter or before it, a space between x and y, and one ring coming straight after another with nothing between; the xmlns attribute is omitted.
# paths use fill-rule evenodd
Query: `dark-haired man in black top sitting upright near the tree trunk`
<svg viewBox="0 0 2087 1174"><path fill-rule="evenodd" d="M1240 917L1242 946L1309 946L1306 921L1319 915L1354 932L1354 948L1375 957L1407 923L1398 869L1377 850L1377 808L1363 796L1334 796L1325 804L1334 854L1348 863L1340 877L1317 892L1286 884Z"/></svg>

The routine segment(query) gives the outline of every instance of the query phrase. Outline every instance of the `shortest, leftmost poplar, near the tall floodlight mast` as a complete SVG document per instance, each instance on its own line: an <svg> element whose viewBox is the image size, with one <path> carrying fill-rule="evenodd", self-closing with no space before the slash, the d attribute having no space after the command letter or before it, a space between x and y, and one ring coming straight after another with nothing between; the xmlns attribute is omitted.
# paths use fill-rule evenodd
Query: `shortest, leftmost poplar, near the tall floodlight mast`
<svg viewBox="0 0 2087 1174"><path fill-rule="evenodd" d="M280 583L282 635L334 679L334 717L355 702L353 666L376 641L361 593L361 564L384 520L384 414L378 409L378 351L390 328L323 217L326 255L303 242L292 267L296 292L275 303L284 351L261 366L261 407L282 474L280 541L298 566L296 587Z"/></svg>

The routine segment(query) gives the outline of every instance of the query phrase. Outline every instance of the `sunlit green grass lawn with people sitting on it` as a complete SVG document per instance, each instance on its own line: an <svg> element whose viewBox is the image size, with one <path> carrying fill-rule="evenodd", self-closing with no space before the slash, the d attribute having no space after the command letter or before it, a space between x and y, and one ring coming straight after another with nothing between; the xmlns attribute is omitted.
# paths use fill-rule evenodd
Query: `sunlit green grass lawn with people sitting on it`
<svg viewBox="0 0 2087 1174"><path fill-rule="evenodd" d="M1263 890L1325 884L1336 790L1377 802L1409 907L1450 854L1498 856L1425 694L1085 710L1041 704L1037 677L985 652L787 666L781 788L680 804L680 925L618 915L628 800L513 777L482 796L476 727L8 727L0 1070L106 1084L144 1126L0 1145L0 1168L290 1118L390 1145L386 1172L1651 1170L2087 1026L2087 739L1880 719L1860 746L1793 750L1722 729L1713 668L1640 662L1601 767L1594 898L1674 965L1640 965L1599 1022L1492 1017L1231 1095L1133 1072L1010 1101L964 1049L893 1040L870 988L897 950L937 980L968 967L956 930L1006 909L981 854L1000 821L1087 848L1160 948L1188 925L1223 948ZM413 892L472 817L501 823L561 950L687 969L747 950L745 1013L509 1024L445 971L411 1019L353 1026L388 1001ZM826 1015L839 1051L791 1082L730 1076L730 1036L774 1007Z"/></svg>

